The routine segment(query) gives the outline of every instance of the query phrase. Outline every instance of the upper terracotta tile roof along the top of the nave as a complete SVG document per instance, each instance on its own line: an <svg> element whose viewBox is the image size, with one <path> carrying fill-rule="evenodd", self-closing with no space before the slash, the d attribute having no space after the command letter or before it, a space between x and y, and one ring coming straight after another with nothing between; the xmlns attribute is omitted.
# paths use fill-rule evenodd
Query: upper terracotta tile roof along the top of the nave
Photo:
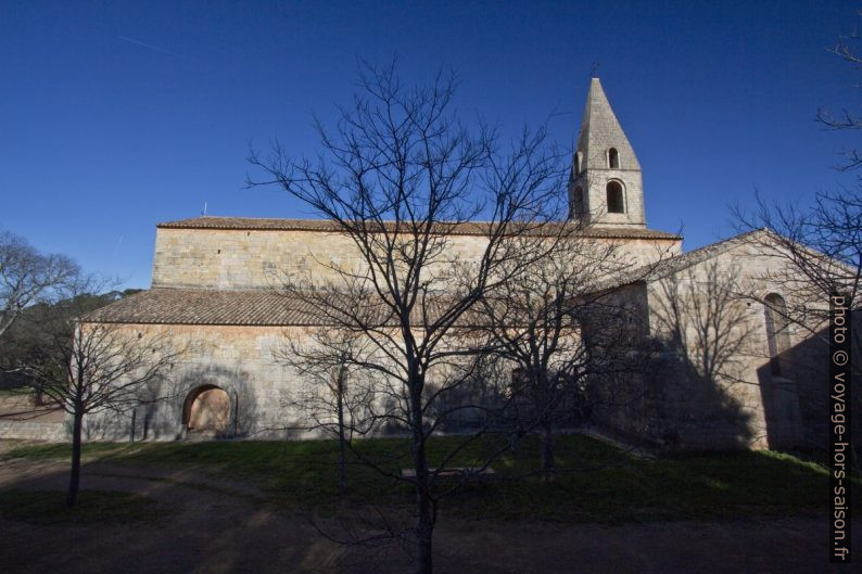
<svg viewBox="0 0 862 574"><path fill-rule="evenodd" d="M483 235L487 230L487 222L471 221L462 224L440 224L455 235ZM562 224L556 224L556 226ZM337 224L328 219L276 219L263 217L192 217L177 221L165 221L156 225L164 229L233 229L250 231L340 231ZM604 239L682 239L675 233L641 228L611 228L592 227L584 230L583 234L591 238Z"/></svg>

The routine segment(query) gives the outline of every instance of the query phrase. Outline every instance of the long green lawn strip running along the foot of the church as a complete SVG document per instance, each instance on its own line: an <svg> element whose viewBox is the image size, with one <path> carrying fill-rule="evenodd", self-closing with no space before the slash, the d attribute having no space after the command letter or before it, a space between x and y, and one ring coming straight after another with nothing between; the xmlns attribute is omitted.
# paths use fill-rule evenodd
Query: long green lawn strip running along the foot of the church
<svg viewBox="0 0 862 574"><path fill-rule="evenodd" d="M429 444L432 465L460 441ZM493 438L470 445L451 465L474 465L499 447ZM357 448L397 472L409 467L408 443L376 438ZM779 452L739 451L641 459L582 435L557 437L559 476L552 484L535 475L537 441L528 437L493 463L496 476L453 495L443 509L467 519L623 522L723 520L824 512L828 474L819 463ZM4 458L67 458L67 445L13 448ZM280 505L338 511L362 503L408 510L410 487L362 464L348 469L350 493L340 496L337 445L331 441L88 444L88 459L136 465L191 468L253 481ZM854 477L857 486L862 480ZM446 487L444 483L440 485ZM857 500L857 512L862 505Z"/></svg>

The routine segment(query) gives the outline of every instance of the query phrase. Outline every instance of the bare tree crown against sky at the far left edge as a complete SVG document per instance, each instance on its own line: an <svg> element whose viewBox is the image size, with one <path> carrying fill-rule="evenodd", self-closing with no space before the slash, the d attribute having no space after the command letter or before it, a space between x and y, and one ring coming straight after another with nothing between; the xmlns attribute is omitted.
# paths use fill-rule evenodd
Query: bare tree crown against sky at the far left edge
<svg viewBox="0 0 862 574"><path fill-rule="evenodd" d="M64 255L39 253L24 238L0 233L0 336L26 307L55 298L58 288L79 272Z"/></svg>

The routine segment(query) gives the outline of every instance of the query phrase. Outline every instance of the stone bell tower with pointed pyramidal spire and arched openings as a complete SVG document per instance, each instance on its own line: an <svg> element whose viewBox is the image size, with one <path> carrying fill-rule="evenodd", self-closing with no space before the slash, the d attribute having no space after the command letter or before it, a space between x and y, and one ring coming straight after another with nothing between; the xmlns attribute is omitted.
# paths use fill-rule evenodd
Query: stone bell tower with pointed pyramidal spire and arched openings
<svg viewBox="0 0 862 574"><path fill-rule="evenodd" d="M598 78L590 82L569 177L569 219L646 227L641 164Z"/></svg>

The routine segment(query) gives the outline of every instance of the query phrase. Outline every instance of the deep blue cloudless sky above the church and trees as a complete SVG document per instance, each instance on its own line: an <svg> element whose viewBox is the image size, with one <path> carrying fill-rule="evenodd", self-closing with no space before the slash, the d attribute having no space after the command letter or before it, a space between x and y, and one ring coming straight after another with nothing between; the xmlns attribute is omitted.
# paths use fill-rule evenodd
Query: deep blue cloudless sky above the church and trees
<svg viewBox="0 0 862 574"><path fill-rule="evenodd" d="M441 65L459 109L574 141L592 62L644 169L647 224L686 248L727 205L804 203L848 176L858 76L826 51L854 2L10 2L0 0L0 229L148 286L155 224L307 217L242 189L250 141L313 153L310 115L354 91L356 58Z"/></svg>

